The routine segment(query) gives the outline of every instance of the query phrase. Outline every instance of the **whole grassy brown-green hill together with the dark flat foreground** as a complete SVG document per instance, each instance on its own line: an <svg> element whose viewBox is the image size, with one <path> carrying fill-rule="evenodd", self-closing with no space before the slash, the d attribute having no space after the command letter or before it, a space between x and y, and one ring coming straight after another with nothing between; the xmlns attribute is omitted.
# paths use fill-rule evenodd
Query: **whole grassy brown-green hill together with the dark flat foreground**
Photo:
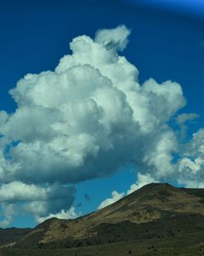
<svg viewBox="0 0 204 256"><path fill-rule="evenodd" d="M204 189L151 183L80 218L48 219L0 255L193 256L203 237Z"/></svg>

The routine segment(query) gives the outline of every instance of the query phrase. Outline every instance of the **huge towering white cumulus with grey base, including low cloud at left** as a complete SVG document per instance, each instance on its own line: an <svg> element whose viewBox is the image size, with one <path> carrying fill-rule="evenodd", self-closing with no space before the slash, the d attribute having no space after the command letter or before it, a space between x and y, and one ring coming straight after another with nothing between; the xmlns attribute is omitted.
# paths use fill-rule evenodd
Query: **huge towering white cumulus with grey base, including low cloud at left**
<svg viewBox="0 0 204 256"><path fill-rule="evenodd" d="M62 57L55 71L26 74L11 89L16 111L0 112L2 210L17 205L39 220L69 213L74 184L126 164L148 173L148 180L180 182L188 166L195 182L204 159L203 131L175 163L181 147L169 120L185 105L182 88L154 79L140 85L135 65L118 54L129 34L121 25L99 30L94 40L73 38L73 54ZM190 150L199 152L195 162Z"/></svg>

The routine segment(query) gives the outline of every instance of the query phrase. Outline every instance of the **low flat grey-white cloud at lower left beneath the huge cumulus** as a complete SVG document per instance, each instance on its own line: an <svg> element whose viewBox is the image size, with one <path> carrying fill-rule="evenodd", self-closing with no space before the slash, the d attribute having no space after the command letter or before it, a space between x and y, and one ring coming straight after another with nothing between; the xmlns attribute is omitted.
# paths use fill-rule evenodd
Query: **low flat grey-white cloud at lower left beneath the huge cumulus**
<svg viewBox="0 0 204 256"><path fill-rule="evenodd" d="M22 182L11 182L2 184L0 187L0 201L3 213L6 216L2 226L11 221L15 211L32 213L36 219L45 218L48 214L69 213L75 197L73 186L60 186L52 184L49 186L37 186L24 184ZM69 216L69 215L68 215Z"/></svg>

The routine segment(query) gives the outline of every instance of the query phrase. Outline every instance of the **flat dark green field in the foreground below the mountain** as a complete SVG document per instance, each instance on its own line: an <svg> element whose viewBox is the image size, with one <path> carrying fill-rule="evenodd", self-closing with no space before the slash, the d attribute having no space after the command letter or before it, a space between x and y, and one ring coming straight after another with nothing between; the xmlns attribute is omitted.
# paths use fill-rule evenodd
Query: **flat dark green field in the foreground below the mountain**
<svg viewBox="0 0 204 256"><path fill-rule="evenodd" d="M186 236L134 240L73 249L1 249L1 256L203 256L204 231Z"/></svg>

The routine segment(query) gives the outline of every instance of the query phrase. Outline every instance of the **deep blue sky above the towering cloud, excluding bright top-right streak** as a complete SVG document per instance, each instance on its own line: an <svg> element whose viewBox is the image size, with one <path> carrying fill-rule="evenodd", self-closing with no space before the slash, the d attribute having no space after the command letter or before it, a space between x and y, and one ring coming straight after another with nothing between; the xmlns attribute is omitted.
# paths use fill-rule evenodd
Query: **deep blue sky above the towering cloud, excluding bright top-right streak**
<svg viewBox="0 0 204 256"><path fill-rule="evenodd" d="M73 37L93 36L97 29L125 24L132 33L123 54L140 70L140 80L175 80L184 88L190 110L202 110L204 20L200 16L196 19L126 1L13 0L0 4L2 109L14 109L8 89L26 73L53 70L69 52Z"/></svg>

